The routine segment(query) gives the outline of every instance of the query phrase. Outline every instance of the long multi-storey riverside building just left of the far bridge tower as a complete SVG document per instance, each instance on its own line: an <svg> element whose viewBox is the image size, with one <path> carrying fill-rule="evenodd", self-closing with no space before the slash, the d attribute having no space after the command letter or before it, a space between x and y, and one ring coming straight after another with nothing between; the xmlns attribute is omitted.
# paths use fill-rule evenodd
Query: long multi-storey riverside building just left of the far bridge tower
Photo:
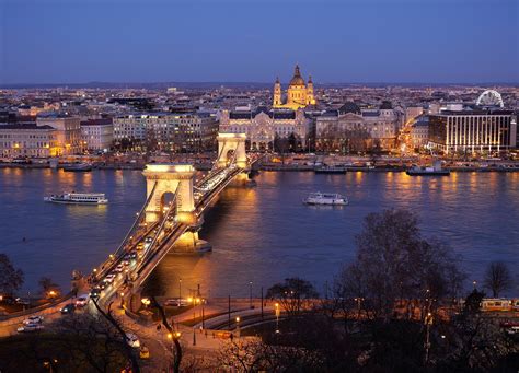
<svg viewBox="0 0 519 373"><path fill-rule="evenodd" d="M115 141L174 152L216 149L218 120L210 113L151 113L114 118Z"/></svg>

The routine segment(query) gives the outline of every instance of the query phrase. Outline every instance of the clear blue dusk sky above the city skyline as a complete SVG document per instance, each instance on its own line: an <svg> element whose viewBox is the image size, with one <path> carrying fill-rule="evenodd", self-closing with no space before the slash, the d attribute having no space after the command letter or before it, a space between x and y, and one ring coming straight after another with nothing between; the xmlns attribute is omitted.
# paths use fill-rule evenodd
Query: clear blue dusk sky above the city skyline
<svg viewBox="0 0 519 373"><path fill-rule="evenodd" d="M518 82L518 0L0 0L0 84Z"/></svg>

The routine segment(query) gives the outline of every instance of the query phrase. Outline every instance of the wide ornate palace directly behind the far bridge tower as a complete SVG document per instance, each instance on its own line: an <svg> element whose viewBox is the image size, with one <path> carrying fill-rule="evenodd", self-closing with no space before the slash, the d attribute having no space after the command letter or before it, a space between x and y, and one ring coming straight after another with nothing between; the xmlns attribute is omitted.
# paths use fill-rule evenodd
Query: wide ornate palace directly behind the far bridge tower
<svg viewBox="0 0 519 373"><path fill-rule="evenodd" d="M288 139L292 133L304 148L310 125L301 109L223 110L220 117L220 132L246 133L251 150L272 150L276 137Z"/></svg>

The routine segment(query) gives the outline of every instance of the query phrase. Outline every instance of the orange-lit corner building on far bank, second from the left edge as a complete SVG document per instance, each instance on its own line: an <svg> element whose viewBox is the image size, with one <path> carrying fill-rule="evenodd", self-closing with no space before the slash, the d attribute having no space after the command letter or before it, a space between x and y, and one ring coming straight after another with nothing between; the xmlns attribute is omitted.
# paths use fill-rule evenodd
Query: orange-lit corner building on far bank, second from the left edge
<svg viewBox="0 0 519 373"><path fill-rule="evenodd" d="M83 151L81 120L61 114L45 114L36 118L37 126L50 126L56 129L57 154L71 155Z"/></svg>

